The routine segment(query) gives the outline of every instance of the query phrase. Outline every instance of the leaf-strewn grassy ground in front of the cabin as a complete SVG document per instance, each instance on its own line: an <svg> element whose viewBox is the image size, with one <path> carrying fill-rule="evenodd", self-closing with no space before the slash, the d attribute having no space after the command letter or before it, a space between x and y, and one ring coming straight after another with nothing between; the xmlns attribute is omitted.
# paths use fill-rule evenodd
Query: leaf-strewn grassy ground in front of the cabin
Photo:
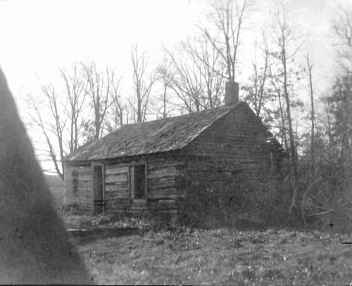
<svg viewBox="0 0 352 286"><path fill-rule="evenodd" d="M97 284L349 285L352 245L329 238L323 245L313 235L285 230L186 229L78 248Z"/></svg>

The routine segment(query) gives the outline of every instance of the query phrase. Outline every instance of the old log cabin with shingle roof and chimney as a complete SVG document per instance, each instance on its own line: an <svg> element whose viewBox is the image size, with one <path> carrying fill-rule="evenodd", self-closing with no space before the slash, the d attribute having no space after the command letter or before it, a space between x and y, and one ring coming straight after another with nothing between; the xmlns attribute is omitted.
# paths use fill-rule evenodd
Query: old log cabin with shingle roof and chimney
<svg viewBox="0 0 352 286"><path fill-rule="evenodd" d="M238 84L227 82L223 106L122 125L82 145L65 157L65 206L94 214L177 212L189 183L210 174L279 178L287 153L238 93Z"/></svg>

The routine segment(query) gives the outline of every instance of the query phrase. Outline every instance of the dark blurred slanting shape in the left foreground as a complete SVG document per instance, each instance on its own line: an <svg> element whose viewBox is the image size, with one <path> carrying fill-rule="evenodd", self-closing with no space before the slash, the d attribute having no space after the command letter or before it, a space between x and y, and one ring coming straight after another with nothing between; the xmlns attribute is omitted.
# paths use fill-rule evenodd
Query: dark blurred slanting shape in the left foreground
<svg viewBox="0 0 352 286"><path fill-rule="evenodd" d="M0 283L89 282L0 70Z"/></svg>

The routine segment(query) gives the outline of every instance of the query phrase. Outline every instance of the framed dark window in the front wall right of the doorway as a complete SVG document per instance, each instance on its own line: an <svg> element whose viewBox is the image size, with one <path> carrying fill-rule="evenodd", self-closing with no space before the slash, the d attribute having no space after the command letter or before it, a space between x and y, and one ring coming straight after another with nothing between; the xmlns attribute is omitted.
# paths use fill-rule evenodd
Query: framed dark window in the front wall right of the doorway
<svg viewBox="0 0 352 286"><path fill-rule="evenodd" d="M130 169L132 200L146 200L146 164L137 164Z"/></svg>

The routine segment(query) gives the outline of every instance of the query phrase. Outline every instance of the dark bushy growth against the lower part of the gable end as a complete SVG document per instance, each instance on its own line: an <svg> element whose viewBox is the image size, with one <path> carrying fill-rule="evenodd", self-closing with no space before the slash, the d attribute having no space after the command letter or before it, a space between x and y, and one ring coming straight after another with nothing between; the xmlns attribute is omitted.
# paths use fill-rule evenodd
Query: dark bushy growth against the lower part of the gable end
<svg viewBox="0 0 352 286"><path fill-rule="evenodd" d="M287 218L287 192L279 192L276 180L259 181L250 174L221 174L191 182L180 207L182 225L264 228Z"/></svg>

